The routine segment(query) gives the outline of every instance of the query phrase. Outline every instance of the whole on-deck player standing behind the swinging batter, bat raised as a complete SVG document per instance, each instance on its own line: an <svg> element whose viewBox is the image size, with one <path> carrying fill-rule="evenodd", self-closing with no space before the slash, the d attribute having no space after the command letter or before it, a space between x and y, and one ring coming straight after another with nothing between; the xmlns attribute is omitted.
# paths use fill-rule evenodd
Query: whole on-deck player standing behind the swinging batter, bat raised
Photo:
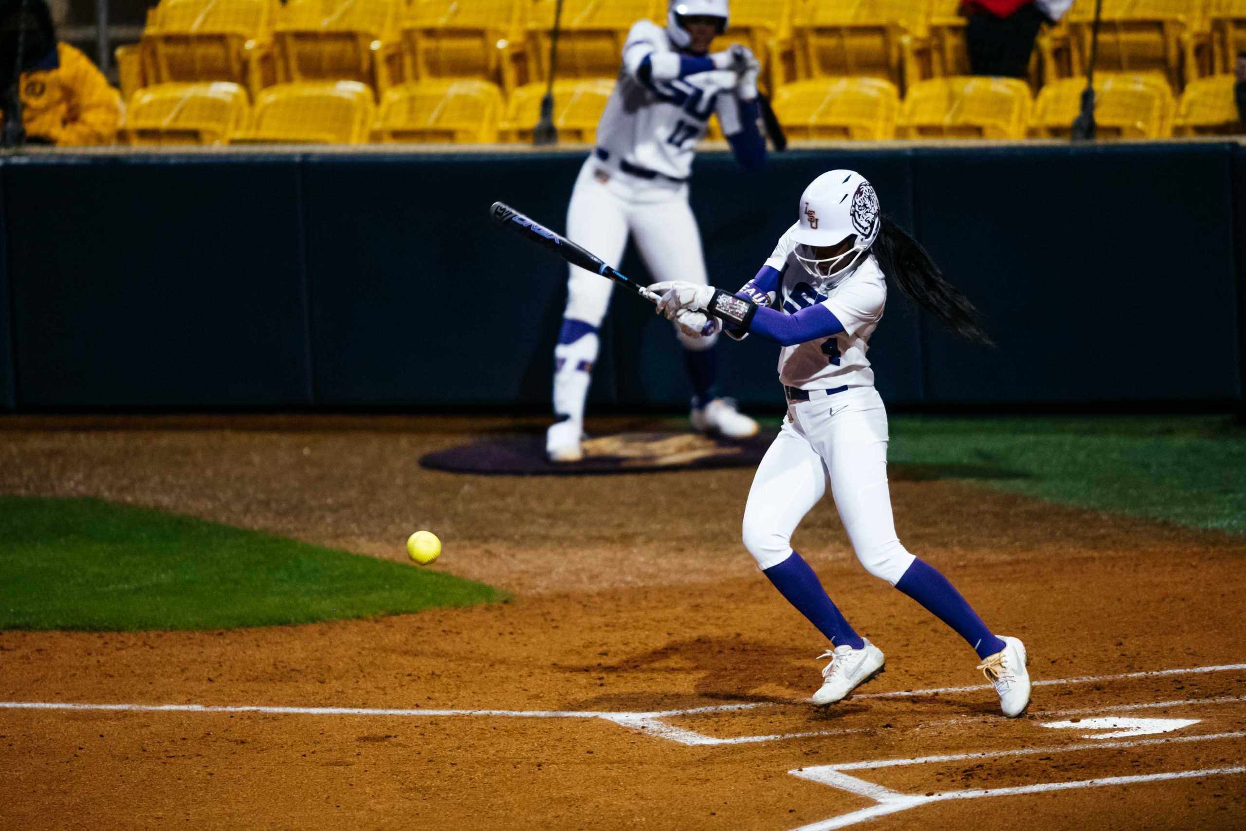
<svg viewBox="0 0 1246 831"><path fill-rule="evenodd" d="M765 161L758 130L760 64L744 46L708 54L726 29L728 0L670 0L667 26L640 20L623 45L618 83L597 125L597 147L584 162L567 208L567 237L618 267L630 233L649 273L705 284L688 178L697 142L718 115L736 159L748 169ZM553 410L546 434L553 461L578 461L584 400L597 360L597 335L613 283L569 268L567 308L554 348ZM758 424L718 397L716 333L690 338L677 326L693 387L695 430L743 439Z"/></svg>

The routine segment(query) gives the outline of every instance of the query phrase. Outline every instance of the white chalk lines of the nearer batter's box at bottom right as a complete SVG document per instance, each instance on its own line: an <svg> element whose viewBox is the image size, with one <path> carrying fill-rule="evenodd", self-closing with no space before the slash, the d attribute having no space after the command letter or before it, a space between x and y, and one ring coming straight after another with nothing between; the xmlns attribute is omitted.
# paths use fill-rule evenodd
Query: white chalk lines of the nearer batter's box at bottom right
<svg viewBox="0 0 1246 831"><path fill-rule="evenodd" d="M993 796L1023 796L1025 794L1044 794L1049 791L1079 790L1085 787L1108 787L1110 785L1134 785L1143 782L1161 782L1174 779L1196 779L1199 776L1229 776L1234 774L1246 774L1246 766L1235 765L1227 767L1204 767L1201 770L1165 771L1161 774L1138 774L1131 776L1105 776L1100 779L1083 779L1074 782L1042 782L1037 785L1020 785L1017 787L991 787L963 791L942 791L938 794L902 794L876 782L867 782L863 779L850 776L845 771L876 770L878 767L897 767L907 765L926 765L941 761L962 761L966 759L1001 759L1006 756L1029 756L1035 754L1064 754L1079 750L1111 750L1120 748L1145 748L1150 745L1179 744L1186 741L1211 741L1215 739L1241 739L1246 733L1214 733L1200 736L1179 736L1172 739L1139 739L1136 741L1100 741L1085 745L1070 745L1065 748L1025 748L1022 750L999 750L991 753L962 753L941 756L918 756L916 759L877 759L873 761L855 761L839 765L819 765L816 767L799 767L787 772L800 779L836 787L856 796L871 799L877 805L863 807L850 814L841 814L820 822L802 825L795 831L831 831L844 829L858 822L875 820L888 814L907 811L932 802L944 802L948 800L973 800Z"/></svg>

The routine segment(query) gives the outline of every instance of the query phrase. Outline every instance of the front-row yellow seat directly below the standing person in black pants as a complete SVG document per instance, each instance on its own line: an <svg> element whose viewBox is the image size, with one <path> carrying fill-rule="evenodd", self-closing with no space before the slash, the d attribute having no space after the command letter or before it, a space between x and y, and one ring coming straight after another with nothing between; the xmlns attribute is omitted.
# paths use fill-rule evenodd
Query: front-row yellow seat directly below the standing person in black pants
<svg viewBox="0 0 1246 831"><path fill-rule="evenodd" d="M908 138L1024 138L1029 85L1018 78L953 76L915 83L900 135Z"/></svg>

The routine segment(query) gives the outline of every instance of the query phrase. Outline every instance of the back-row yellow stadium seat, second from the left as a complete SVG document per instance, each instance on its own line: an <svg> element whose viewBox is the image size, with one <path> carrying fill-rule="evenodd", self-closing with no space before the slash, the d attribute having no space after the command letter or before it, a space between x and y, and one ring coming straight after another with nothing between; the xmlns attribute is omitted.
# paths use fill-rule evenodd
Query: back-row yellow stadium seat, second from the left
<svg viewBox="0 0 1246 831"><path fill-rule="evenodd" d="M399 9L400 0L287 0L273 32L278 80L360 81L383 93Z"/></svg>

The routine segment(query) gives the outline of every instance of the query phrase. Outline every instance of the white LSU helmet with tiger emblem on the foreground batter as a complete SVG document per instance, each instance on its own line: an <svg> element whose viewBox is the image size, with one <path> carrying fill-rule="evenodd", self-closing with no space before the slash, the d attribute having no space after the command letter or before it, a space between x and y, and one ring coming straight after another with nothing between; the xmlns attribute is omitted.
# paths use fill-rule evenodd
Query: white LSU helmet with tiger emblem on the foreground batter
<svg viewBox="0 0 1246 831"><path fill-rule="evenodd" d="M800 218L792 239L795 254L816 278L847 275L878 238L882 209L873 186L856 171L830 171L810 182L800 196ZM839 245L855 237L852 247L835 257L817 249Z"/></svg>

